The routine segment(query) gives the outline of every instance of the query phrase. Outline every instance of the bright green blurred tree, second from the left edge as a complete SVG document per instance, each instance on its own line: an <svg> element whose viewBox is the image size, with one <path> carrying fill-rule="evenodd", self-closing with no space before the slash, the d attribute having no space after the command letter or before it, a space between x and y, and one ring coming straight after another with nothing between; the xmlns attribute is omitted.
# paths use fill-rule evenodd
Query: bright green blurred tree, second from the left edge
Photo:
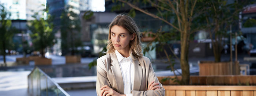
<svg viewBox="0 0 256 96"><path fill-rule="evenodd" d="M48 12L48 7L46 6L46 9L42 11ZM34 49L40 51L42 57L45 57L46 47L52 46L55 43L55 32L53 31L53 17L50 16L50 14L48 14L46 18L42 18L41 16L43 15L35 13L35 15L33 15L35 20L29 21L28 27L32 32L31 38Z"/></svg>

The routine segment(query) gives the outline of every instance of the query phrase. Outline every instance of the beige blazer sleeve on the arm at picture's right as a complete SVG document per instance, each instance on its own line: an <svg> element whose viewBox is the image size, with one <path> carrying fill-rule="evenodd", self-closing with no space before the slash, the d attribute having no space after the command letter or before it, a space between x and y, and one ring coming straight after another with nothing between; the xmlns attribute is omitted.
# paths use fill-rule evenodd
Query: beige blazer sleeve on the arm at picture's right
<svg viewBox="0 0 256 96"><path fill-rule="evenodd" d="M148 59L149 61L149 72L148 72L148 84L151 82L151 81L155 81L155 82L158 82L159 85L157 86L161 86L159 87L157 90L149 90L149 91L132 91L132 95L133 96L165 96L165 89L163 88L162 84L158 81L158 78L157 76L155 75L155 72L154 72L154 69L152 68L152 64L150 62L150 60ZM154 83L155 83L154 82ZM148 85L147 84L147 85ZM147 87L146 87L147 88ZM147 89L146 89L147 90Z"/></svg>

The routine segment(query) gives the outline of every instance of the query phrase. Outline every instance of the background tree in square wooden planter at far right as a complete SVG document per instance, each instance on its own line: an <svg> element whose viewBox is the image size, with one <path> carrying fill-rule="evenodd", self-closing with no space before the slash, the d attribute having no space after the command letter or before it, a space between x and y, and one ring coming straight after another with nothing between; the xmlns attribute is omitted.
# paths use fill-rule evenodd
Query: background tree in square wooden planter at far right
<svg viewBox="0 0 256 96"><path fill-rule="evenodd" d="M221 62L221 51L226 44L224 38L229 37L230 25L238 26L238 15L248 0L227 4L226 0L208 0L205 14L206 30L210 32L215 62ZM238 29L237 29L238 30Z"/></svg>

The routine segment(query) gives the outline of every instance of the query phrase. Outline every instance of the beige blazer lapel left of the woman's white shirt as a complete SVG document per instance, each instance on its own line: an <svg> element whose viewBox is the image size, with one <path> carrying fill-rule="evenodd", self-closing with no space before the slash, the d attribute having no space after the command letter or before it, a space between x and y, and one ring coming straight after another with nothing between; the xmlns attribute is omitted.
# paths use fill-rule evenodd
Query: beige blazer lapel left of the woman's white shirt
<svg viewBox="0 0 256 96"><path fill-rule="evenodd" d="M112 64L112 66L110 67L113 75L114 75L114 79L116 81L117 84L117 91L120 92L121 94L124 94L124 82L123 82L123 77L122 77L122 73L121 73L121 69L116 57L116 53L110 53L110 64Z"/></svg>

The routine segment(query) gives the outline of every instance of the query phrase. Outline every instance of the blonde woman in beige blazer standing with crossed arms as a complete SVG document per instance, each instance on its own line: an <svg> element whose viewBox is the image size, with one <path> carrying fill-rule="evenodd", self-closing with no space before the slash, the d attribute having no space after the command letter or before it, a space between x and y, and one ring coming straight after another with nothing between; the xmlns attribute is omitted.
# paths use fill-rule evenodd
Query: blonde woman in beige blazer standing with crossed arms
<svg viewBox="0 0 256 96"><path fill-rule="evenodd" d="M120 14L110 23L106 53L97 59L98 96L164 96L131 17Z"/></svg>

